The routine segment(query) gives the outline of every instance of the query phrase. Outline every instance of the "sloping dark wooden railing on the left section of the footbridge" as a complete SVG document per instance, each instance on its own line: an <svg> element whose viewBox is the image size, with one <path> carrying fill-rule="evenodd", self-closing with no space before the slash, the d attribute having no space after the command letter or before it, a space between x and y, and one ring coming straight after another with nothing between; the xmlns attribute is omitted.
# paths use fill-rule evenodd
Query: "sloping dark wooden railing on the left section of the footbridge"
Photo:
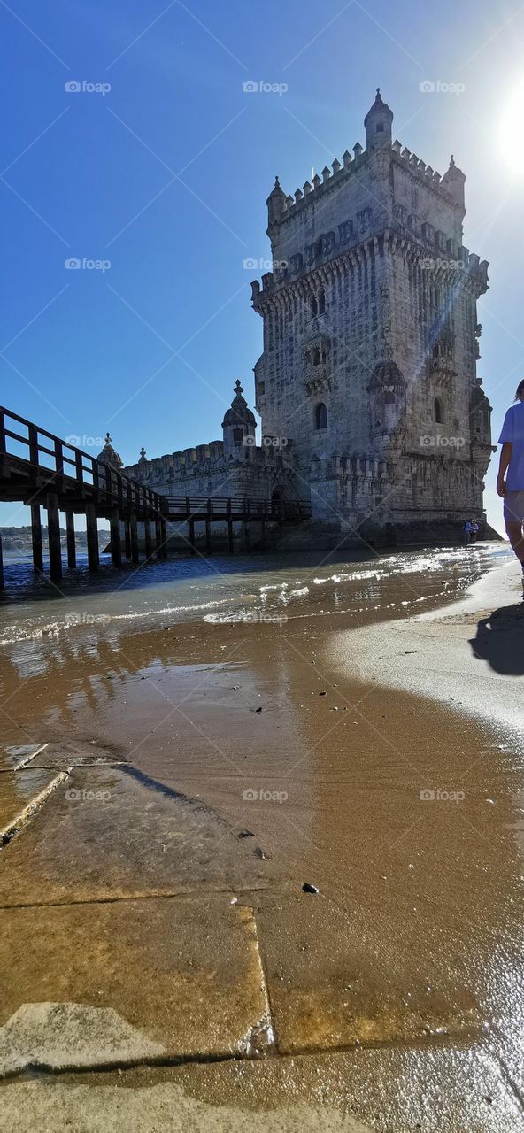
<svg viewBox="0 0 524 1133"><path fill-rule="evenodd" d="M19 460L44 476L49 474L57 488L60 478L67 477L85 488L105 494L115 503L163 516L164 497L158 492L128 479L116 468L101 463L76 445L3 407L0 407L0 457Z"/></svg>

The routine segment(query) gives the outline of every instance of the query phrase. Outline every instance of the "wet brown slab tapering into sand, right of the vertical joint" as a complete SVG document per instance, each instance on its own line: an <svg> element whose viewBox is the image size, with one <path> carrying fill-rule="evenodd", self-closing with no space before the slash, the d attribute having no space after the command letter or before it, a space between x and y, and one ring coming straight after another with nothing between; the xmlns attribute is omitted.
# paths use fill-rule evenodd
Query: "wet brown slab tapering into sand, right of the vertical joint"
<svg viewBox="0 0 524 1133"><path fill-rule="evenodd" d="M394 940L379 955L350 910L322 894L260 894L256 921L281 1053L477 1036L485 1024L451 970L416 966Z"/></svg>

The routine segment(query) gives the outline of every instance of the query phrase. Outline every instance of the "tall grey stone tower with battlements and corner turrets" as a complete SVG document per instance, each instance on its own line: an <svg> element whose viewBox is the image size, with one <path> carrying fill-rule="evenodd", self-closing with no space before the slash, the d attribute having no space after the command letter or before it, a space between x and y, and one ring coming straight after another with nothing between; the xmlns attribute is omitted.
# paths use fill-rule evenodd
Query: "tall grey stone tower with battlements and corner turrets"
<svg viewBox="0 0 524 1133"><path fill-rule="evenodd" d="M482 518L490 404L476 377L488 264L463 244L464 181L392 142L380 91L366 148L268 198L273 270L255 401L295 455L313 518L371 537L450 534Z"/></svg>

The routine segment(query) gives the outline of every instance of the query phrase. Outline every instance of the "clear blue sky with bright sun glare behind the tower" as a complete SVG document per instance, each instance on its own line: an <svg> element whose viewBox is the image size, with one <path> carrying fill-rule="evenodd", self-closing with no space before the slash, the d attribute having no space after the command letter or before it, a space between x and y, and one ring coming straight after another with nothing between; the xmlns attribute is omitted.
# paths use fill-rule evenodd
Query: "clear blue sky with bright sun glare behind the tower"
<svg viewBox="0 0 524 1133"><path fill-rule="evenodd" d="M220 437L238 376L253 402L262 324L243 259L269 255L274 174L293 193L364 142L380 85L394 136L466 173L465 244L491 264L479 375L497 440L524 375L522 121L512 159L504 146L523 31L518 0L0 0L1 402L61 436L109 428L126 462ZM493 477L495 462L500 527Z"/></svg>

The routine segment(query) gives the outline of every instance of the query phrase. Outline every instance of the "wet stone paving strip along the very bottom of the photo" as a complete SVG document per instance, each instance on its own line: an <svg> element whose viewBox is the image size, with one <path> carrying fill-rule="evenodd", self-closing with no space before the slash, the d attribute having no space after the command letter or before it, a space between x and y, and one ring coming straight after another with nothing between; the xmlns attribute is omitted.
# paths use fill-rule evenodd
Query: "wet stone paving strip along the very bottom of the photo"
<svg viewBox="0 0 524 1133"><path fill-rule="evenodd" d="M519 1133L523 1113L482 1049L373 1048L228 1059L0 1087L17 1133ZM271 1099L269 1101L269 1099Z"/></svg>

